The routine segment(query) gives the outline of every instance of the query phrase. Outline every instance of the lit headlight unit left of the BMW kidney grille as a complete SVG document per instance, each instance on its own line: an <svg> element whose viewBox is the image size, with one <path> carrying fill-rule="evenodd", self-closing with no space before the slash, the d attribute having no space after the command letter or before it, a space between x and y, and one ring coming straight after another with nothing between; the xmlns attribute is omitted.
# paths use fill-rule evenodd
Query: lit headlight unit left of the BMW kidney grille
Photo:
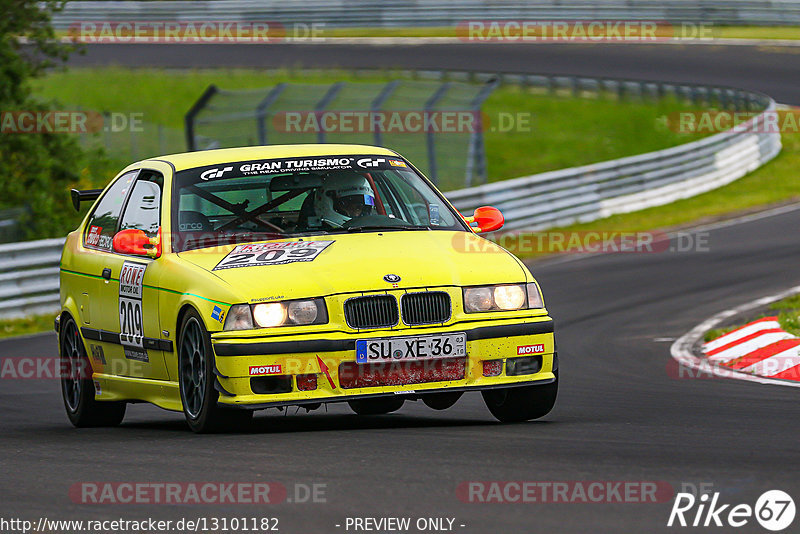
<svg viewBox="0 0 800 534"><path fill-rule="evenodd" d="M328 313L323 299L237 304L225 319L225 330L251 330L276 326L324 324Z"/></svg>

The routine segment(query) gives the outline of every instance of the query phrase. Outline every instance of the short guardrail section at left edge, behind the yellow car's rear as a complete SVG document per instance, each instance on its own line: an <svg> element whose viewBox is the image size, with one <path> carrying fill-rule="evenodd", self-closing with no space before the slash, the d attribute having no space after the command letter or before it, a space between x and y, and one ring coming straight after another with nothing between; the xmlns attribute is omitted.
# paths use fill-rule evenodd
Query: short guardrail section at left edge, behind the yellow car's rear
<svg viewBox="0 0 800 534"><path fill-rule="evenodd" d="M64 239L0 245L0 319L58 310Z"/></svg>

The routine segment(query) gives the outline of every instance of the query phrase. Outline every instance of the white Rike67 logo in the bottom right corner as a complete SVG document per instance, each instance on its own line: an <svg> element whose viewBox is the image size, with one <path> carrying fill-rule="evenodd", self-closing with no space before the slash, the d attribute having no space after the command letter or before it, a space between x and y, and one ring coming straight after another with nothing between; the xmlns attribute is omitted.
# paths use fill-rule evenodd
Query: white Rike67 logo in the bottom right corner
<svg viewBox="0 0 800 534"><path fill-rule="evenodd" d="M755 519L763 528L778 532L792 524L795 512L794 500L781 490L764 492L755 506L722 504L718 491L699 497L692 493L678 493L667 526L739 528Z"/></svg>

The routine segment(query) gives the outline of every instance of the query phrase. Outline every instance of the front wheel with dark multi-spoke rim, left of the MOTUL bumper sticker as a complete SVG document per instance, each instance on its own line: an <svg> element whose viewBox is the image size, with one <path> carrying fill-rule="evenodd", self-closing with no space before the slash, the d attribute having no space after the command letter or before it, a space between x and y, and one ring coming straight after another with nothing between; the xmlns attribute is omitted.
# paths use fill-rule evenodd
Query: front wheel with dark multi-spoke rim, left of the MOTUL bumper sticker
<svg viewBox="0 0 800 534"><path fill-rule="evenodd" d="M253 412L219 406L215 382L211 336L200 315L189 310L178 335L178 384L186 423L198 434L244 429Z"/></svg>

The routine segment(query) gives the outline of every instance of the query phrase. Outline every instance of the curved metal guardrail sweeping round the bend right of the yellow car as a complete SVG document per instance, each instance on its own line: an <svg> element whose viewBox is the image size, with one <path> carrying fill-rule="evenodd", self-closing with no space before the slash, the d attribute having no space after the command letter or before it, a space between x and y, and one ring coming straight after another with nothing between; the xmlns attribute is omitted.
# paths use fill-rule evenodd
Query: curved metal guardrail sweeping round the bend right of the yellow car
<svg viewBox="0 0 800 534"><path fill-rule="evenodd" d="M770 101L763 113L774 111ZM498 208L506 230L537 231L692 197L741 178L780 150L777 131L729 130L638 156L451 191L447 197L465 214L483 205Z"/></svg>

